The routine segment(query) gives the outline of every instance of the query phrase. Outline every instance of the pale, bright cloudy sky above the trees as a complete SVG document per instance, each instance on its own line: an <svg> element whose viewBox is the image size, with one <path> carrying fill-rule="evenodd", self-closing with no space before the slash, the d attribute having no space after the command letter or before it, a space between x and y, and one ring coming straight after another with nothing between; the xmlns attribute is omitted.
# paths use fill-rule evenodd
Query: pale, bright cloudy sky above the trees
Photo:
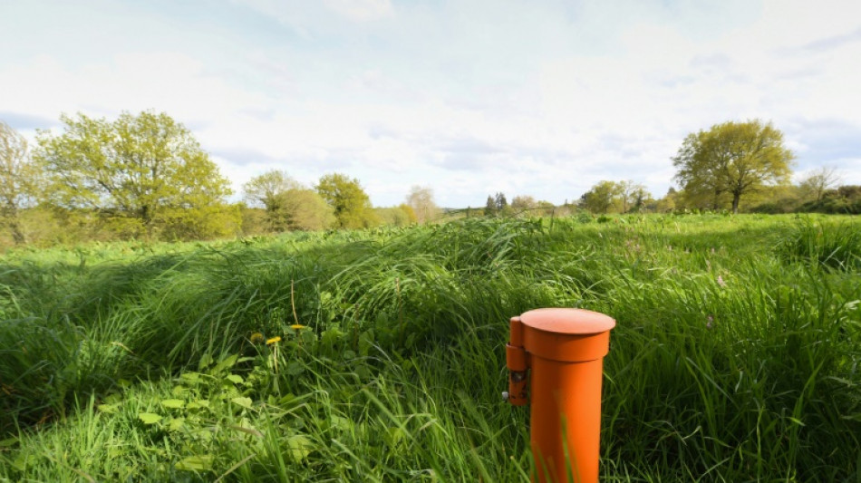
<svg viewBox="0 0 861 483"><path fill-rule="evenodd" d="M242 184L270 169L574 201L672 186L691 132L770 121L795 179L861 184L857 0L0 0L0 120L167 112Z"/></svg>

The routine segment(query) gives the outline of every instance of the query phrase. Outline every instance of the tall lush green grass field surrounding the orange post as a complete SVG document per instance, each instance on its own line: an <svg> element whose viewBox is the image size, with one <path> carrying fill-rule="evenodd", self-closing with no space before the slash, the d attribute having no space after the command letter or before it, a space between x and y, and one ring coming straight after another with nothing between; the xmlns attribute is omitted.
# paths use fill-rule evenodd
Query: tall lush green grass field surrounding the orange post
<svg viewBox="0 0 861 483"><path fill-rule="evenodd" d="M0 480L528 481L508 318L564 306L617 320L606 481L859 482L859 275L857 217L17 250Z"/></svg>

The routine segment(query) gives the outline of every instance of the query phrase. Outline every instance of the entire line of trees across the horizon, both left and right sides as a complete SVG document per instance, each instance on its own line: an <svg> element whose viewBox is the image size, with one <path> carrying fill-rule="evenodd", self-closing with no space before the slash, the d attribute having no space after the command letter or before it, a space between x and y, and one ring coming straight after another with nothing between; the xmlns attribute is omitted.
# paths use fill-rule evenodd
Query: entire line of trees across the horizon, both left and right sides
<svg viewBox="0 0 861 483"><path fill-rule="evenodd" d="M0 121L0 224L16 245L87 239L196 239L290 230L406 226L440 219L430 188L414 186L401 205L374 208L358 179L324 175L304 186L270 170L228 203L228 180L191 132L168 114L123 112L113 121L63 115L63 132L37 130L30 149ZM556 207L503 193L466 216L546 216L740 209L861 212L861 187L837 187L834 169L789 183L793 153L759 120L724 122L689 134L672 157L677 169L659 199L633 180L602 180L576 203ZM0 244L3 244L0 240ZM8 244L8 243L6 243Z"/></svg>

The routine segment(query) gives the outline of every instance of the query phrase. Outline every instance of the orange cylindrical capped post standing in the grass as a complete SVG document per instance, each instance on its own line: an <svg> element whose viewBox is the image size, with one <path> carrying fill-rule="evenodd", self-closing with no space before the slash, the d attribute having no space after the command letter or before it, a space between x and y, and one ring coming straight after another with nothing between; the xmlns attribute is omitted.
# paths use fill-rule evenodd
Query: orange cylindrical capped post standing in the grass
<svg viewBox="0 0 861 483"><path fill-rule="evenodd" d="M550 308L510 324L503 397L518 406L531 400L533 480L597 482L602 370L615 321L588 310Z"/></svg>

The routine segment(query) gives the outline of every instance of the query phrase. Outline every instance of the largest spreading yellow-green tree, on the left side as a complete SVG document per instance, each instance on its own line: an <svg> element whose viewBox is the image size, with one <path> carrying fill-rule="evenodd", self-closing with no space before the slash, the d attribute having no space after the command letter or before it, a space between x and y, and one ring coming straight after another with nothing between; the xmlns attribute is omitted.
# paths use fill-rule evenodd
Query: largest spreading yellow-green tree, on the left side
<svg viewBox="0 0 861 483"><path fill-rule="evenodd" d="M178 209L211 210L230 194L191 132L168 114L123 112L116 121L61 116L64 132L38 132L36 157L48 194L63 208L89 208L133 217L150 230ZM188 214L186 214L188 215Z"/></svg>

